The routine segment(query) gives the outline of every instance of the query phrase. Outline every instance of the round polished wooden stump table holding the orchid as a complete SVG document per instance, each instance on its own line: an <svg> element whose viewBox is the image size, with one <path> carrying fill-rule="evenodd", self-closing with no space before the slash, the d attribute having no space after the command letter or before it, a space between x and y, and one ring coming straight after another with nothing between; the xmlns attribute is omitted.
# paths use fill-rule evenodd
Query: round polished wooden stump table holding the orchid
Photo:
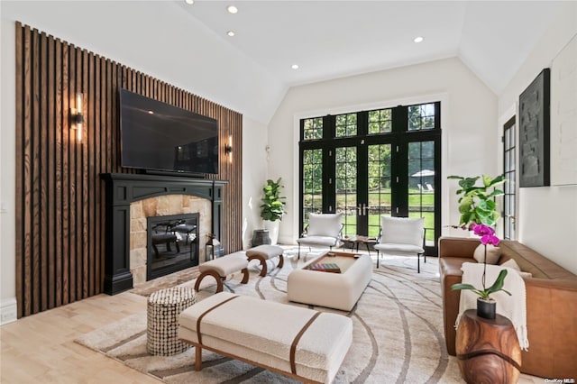
<svg viewBox="0 0 577 384"><path fill-rule="evenodd" d="M463 313L455 341L461 375L467 383L516 383L521 366L517 332L503 315L494 320Z"/></svg>

